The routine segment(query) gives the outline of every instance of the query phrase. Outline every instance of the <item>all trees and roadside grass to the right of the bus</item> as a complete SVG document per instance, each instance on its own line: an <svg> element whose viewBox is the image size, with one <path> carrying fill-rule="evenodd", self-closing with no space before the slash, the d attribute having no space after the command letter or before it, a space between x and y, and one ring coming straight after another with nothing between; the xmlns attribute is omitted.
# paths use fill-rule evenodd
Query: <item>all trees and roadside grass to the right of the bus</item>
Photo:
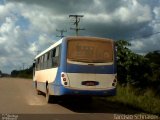
<svg viewBox="0 0 160 120"><path fill-rule="evenodd" d="M135 54L124 40L117 46L117 95L107 98L114 102L160 114L160 51L145 56Z"/></svg>

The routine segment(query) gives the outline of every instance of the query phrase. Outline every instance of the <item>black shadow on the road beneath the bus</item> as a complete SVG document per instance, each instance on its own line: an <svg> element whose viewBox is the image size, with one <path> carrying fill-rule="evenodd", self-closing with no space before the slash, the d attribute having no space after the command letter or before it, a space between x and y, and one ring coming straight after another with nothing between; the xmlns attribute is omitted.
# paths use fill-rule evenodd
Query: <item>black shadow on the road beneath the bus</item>
<svg viewBox="0 0 160 120"><path fill-rule="evenodd" d="M63 99L58 104L77 113L114 113L114 114L138 114L140 111L129 108L121 103L114 103L100 98L91 102L80 99Z"/></svg>

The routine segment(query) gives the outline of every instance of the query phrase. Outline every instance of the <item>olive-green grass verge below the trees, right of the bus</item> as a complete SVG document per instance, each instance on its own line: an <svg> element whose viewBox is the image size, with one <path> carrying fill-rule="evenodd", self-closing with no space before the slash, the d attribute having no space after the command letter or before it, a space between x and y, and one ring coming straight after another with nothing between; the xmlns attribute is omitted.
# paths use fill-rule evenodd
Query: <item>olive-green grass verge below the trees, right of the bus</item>
<svg viewBox="0 0 160 120"><path fill-rule="evenodd" d="M144 112L160 115L160 97L156 96L151 89L141 91L130 86L117 87L117 95L107 100L120 102Z"/></svg>

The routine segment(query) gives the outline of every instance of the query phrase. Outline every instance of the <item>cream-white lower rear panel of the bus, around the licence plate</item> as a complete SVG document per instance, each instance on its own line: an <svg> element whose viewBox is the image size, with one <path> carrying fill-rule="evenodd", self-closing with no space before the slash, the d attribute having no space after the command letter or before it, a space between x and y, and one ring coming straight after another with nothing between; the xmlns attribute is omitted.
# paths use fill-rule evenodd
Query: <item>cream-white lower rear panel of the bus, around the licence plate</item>
<svg viewBox="0 0 160 120"><path fill-rule="evenodd" d="M106 90L113 88L114 74L67 73L70 88L78 90ZM83 82L97 82L97 85L85 85Z"/></svg>

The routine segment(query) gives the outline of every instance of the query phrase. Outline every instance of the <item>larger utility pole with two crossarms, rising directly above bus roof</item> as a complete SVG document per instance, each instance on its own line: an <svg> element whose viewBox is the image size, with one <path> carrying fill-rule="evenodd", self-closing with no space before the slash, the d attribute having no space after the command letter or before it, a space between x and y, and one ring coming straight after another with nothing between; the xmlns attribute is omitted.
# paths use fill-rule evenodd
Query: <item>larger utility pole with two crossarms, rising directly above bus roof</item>
<svg viewBox="0 0 160 120"><path fill-rule="evenodd" d="M78 24L80 22L80 18L84 17L83 15L69 15L69 17L72 17L75 19L74 21L74 25L76 26L75 28L70 28L71 30L75 30L76 31L76 36L78 36L78 31L79 30L85 30L84 28L79 28Z"/></svg>

